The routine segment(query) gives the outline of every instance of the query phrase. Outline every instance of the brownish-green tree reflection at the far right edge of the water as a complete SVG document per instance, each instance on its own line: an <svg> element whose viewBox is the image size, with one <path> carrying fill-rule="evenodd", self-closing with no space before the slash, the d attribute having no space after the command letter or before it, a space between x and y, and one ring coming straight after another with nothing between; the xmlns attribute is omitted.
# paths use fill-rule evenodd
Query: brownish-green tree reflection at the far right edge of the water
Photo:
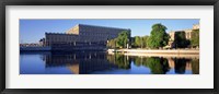
<svg viewBox="0 0 219 94"><path fill-rule="evenodd" d="M199 74L199 59L192 59L191 62L193 74Z"/></svg>

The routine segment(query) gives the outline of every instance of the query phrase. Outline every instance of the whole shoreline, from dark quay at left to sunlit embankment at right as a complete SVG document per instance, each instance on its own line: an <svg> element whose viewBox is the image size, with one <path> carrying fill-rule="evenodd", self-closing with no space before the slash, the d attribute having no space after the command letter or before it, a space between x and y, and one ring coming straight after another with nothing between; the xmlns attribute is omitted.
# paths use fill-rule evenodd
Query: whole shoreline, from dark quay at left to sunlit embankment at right
<svg viewBox="0 0 219 94"><path fill-rule="evenodd" d="M96 49L71 49L72 51L96 51ZM100 49L101 50L101 49ZM20 51L70 51L54 50L51 47L20 47ZM152 54L152 55L199 55L199 49L102 49L108 54Z"/></svg>

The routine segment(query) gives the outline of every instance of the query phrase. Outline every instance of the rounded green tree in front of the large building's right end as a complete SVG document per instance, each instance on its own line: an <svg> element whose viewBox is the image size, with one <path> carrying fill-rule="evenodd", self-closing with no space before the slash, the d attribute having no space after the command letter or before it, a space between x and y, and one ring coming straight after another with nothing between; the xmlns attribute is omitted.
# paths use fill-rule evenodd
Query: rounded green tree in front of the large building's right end
<svg viewBox="0 0 219 94"><path fill-rule="evenodd" d="M118 37L116 38L116 44L122 48L126 48L126 45L129 44L129 39L130 39L130 32L124 31L118 34Z"/></svg>

